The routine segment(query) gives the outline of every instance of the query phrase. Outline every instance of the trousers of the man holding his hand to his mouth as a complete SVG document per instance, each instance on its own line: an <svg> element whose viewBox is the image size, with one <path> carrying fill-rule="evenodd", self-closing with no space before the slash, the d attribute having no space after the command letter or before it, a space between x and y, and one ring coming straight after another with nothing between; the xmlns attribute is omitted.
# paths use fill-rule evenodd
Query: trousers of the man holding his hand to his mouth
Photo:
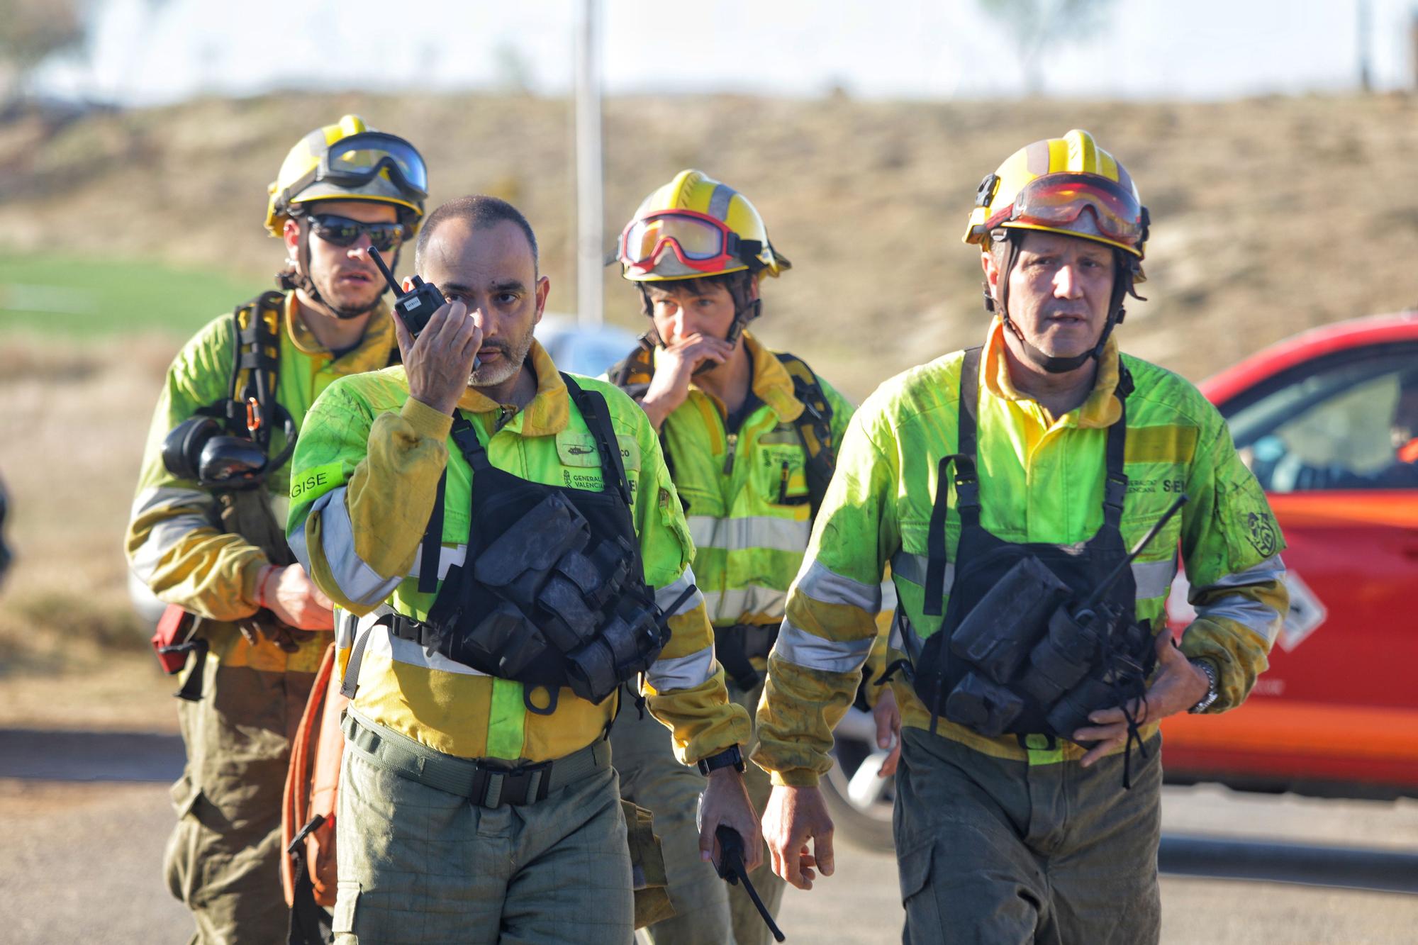
<svg viewBox="0 0 1418 945"><path fill-rule="evenodd" d="M729 680L729 698L749 709L749 719L754 718L761 694L761 684L744 692ZM752 746L744 746L746 759ZM696 814L705 778L698 769L675 761L669 729L649 712L640 718L634 705L625 705L611 726L611 759L621 776L621 796L655 814L655 833L665 851L675 915L647 928L647 938L657 945L767 945L773 941L743 887L729 885L712 864L699 858ZM744 782L753 809L761 814L773 792L769 775L749 762ZM766 847L763 866L749 878L763 904L777 915L787 884L774 875Z"/></svg>

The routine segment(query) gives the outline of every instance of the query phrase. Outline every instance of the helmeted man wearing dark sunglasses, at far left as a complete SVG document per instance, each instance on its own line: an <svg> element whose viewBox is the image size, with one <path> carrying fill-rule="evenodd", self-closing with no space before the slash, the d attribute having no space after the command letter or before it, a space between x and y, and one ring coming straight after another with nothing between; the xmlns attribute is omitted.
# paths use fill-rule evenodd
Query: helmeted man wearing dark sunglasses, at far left
<svg viewBox="0 0 1418 945"><path fill-rule="evenodd" d="M285 243L285 291L187 342L153 414L126 549L170 604L160 630L176 627L160 656L182 673L187 765L172 790L164 871L193 912L194 942L286 936L281 789L332 639L330 602L285 543L286 460L316 394L397 358L386 284L366 250L397 253L427 187L413 145L356 115L302 138L265 214Z"/></svg>

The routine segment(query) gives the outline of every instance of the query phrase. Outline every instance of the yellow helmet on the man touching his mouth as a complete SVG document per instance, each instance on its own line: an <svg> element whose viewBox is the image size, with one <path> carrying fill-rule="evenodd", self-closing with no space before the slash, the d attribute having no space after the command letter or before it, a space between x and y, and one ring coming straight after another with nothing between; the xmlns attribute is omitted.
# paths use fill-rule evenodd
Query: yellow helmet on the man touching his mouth
<svg viewBox="0 0 1418 945"><path fill-rule="evenodd" d="M615 258L632 282L742 271L761 278L793 265L769 243L763 217L749 199L700 170L681 170L641 201L621 233Z"/></svg>

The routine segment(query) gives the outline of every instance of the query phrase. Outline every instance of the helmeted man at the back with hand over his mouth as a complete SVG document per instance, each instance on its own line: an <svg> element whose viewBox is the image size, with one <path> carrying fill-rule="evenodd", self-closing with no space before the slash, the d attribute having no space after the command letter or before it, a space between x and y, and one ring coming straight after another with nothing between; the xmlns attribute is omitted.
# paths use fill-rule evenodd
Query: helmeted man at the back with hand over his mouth
<svg viewBox="0 0 1418 945"><path fill-rule="evenodd" d="M744 331L759 314L763 277L790 264L754 206L727 184L681 172L641 203L617 255L651 326L611 379L659 433L693 536L715 653L730 697L752 715L852 404L801 359L771 352ZM872 593L876 606L876 585ZM893 718L888 695L879 707L888 744ZM675 762L664 726L623 712L611 744L623 796L655 813L664 841L676 914L651 927L652 941L767 942L743 887L719 881L698 856L703 779ZM761 810L767 775L750 766L747 783ZM783 881L766 867L752 881L777 910Z"/></svg>

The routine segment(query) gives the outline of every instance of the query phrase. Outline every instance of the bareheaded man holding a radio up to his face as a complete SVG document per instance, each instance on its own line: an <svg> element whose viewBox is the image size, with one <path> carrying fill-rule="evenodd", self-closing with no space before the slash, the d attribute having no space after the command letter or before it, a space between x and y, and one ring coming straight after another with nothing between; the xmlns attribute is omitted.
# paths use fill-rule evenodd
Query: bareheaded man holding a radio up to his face
<svg viewBox="0 0 1418 945"><path fill-rule="evenodd" d="M549 282L493 197L435 210L415 268L448 302L404 366L306 417L291 545L357 616L336 816L339 942L614 942L632 871L605 731L649 709L760 860L749 719L715 661L679 498L645 414L533 341Z"/></svg>

